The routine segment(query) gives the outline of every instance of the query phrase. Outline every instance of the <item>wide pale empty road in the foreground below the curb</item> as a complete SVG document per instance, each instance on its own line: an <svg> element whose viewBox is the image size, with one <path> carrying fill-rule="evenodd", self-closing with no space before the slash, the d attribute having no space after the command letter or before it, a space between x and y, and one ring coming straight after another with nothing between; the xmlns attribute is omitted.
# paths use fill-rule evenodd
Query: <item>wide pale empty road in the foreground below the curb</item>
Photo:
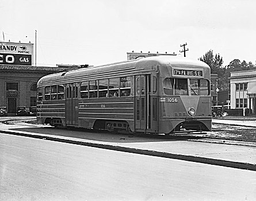
<svg viewBox="0 0 256 201"><path fill-rule="evenodd" d="M256 200L256 173L0 134L0 200Z"/></svg>

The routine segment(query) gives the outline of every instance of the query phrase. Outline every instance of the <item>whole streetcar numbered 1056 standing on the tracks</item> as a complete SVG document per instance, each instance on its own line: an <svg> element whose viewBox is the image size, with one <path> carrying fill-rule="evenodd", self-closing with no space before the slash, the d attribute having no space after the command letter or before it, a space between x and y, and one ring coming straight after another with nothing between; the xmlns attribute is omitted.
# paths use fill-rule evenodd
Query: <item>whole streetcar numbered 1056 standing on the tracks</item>
<svg viewBox="0 0 256 201"><path fill-rule="evenodd" d="M44 76L37 123L109 132L211 131L210 68L153 56Z"/></svg>

